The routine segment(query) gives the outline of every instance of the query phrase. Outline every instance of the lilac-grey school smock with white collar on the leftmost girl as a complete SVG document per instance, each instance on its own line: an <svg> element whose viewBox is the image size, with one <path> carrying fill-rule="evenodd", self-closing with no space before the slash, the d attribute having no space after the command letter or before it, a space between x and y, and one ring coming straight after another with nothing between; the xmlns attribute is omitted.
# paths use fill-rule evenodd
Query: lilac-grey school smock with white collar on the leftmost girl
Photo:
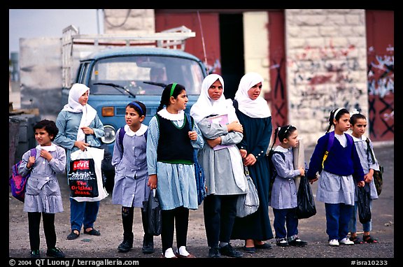
<svg viewBox="0 0 403 267"><path fill-rule="evenodd" d="M53 159L48 161L40 156L41 149L49 150ZM22 156L22 163L18 171L25 175L30 152ZM57 213L63 211L62 194L60 192L57 173L63 173L66 166L66 153L62 147L50 145L48 147L36 147L35 164L31 166L31 175L27 181L24 199L24 211Z"/></svg>

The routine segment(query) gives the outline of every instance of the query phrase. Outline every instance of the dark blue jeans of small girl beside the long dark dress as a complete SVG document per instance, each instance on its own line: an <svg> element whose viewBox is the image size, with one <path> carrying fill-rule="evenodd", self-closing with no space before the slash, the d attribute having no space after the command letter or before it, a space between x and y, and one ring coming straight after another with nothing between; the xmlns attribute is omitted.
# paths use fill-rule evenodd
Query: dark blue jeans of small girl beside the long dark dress
<svg viewBox="0 0 403 267"><path fill-rule="evenodd" d="M295 214L295 208L285 208L280 210L274 208L273 214L273 226L274 231L276 232L276 238L290 238L291 236L298 234L298 219Z"/></svg>

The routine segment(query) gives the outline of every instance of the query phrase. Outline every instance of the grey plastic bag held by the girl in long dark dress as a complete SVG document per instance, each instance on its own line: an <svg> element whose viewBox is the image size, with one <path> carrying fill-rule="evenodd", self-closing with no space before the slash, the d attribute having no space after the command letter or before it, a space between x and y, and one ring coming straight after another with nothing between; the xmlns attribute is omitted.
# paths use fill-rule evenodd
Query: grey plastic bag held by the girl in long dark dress
<svg viewBox="0 0 403 267"><path fill-rule="evenodd" d="M238 196L236 201L236 217L246 217L256 212L260 205L259 195L257 194L257 189L252 178L250 178L248 167L243 167L245 170L246 180L248 181L248 192Z"/></svg>

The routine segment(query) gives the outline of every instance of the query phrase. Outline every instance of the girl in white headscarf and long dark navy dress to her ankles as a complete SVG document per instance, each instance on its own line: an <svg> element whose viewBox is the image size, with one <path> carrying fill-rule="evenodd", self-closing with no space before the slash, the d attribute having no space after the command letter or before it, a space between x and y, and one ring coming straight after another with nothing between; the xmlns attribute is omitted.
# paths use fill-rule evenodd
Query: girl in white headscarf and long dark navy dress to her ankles
<svg viewBox="0 0 403 267"><path fill-rule="evenodd" d="M258 73L246 73L235 94L236 117L243 126L243 139L237 146L248 166L250 177L259 196L259 208L246 217L236 217L232 239L245 240L246 252L269 249L263 240L273 238L269 218L269 161L266 151L271 137L271 113L267 101L260 96L263 78Z"/></svg>

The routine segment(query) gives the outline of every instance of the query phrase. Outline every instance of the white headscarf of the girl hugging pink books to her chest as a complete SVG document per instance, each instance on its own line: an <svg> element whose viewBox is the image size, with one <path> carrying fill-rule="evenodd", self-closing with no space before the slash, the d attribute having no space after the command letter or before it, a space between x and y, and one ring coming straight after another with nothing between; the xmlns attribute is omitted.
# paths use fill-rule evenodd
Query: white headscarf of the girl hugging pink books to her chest
<svg viewBox="0 0 403 267"><path fill-rule="evenodd" d="M220 99L212 100L210 96L208 96L208 89L216 80L220 80L221 82L222 95ZM199 99L197 99L196 103L192 106L192 108L190 108L190 115L192 115L192 117L195 119L195 122L198 123L209 115L223 114L228 115L229 123L234 122L234 120L238 120L235 114L235 108L232 106L232 100L225 99L224 80L222 80L222 77L218 74L207 75L201 83Z"/></svg>

